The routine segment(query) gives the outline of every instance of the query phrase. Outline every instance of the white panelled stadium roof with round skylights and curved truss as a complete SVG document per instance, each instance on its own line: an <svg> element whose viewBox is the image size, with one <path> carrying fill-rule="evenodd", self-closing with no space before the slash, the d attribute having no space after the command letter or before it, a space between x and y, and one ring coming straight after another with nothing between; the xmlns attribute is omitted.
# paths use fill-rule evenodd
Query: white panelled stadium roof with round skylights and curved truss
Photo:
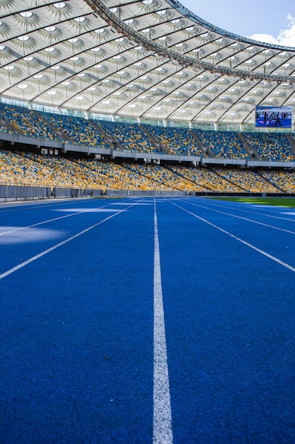
<svg viewBox="0 0 295 444"><path fill-rule="evenodd" d="M88 113L253 123L293 106L295 48L213 26L176 0L1 0L0 94Z"/></svg>

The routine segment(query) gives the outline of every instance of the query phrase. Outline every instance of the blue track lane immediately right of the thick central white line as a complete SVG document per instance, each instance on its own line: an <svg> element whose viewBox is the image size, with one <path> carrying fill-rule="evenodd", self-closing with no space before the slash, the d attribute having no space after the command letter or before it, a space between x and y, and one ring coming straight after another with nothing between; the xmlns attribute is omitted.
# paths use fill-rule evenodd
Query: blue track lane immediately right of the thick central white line
<svg viewBox="0 0 295 444"><path fill-rule="evenodd" d="M294 272L173 203L158 231L174 442L289 443Z"/></svg>

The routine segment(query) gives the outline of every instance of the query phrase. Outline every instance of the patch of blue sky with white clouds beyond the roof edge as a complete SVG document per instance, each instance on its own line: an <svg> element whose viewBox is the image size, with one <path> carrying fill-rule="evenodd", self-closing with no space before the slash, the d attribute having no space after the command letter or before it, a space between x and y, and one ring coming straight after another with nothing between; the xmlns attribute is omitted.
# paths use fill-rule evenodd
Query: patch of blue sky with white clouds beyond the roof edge
<svg viewBox="0 0 295 444"><path fill-rule="evenodd" d="M197 16L231 33L295 48L295 0L179 0Z"/></svg>

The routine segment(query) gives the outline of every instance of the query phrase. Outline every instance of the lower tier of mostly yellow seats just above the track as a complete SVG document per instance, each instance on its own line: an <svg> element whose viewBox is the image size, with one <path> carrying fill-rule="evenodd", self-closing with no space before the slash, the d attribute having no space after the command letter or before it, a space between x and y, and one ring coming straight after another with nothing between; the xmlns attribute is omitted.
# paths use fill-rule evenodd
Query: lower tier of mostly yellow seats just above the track
<svg viewBox="0 0 295 444"><path fill-rule="evenodd" d="M195 168L0 150L0 184L182 192L295 192L291 170Z"/></svg>

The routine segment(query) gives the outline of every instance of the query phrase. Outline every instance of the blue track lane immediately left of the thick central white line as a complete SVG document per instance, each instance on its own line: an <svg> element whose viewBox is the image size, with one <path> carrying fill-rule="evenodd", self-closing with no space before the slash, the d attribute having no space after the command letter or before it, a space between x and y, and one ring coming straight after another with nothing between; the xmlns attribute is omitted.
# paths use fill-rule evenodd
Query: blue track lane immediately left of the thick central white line
<svg viewBox="0 0 295 444"><path fill-rule="evenodd" d="M3 442L152 442L154 206L129 204L1 280Z"/></svg>

